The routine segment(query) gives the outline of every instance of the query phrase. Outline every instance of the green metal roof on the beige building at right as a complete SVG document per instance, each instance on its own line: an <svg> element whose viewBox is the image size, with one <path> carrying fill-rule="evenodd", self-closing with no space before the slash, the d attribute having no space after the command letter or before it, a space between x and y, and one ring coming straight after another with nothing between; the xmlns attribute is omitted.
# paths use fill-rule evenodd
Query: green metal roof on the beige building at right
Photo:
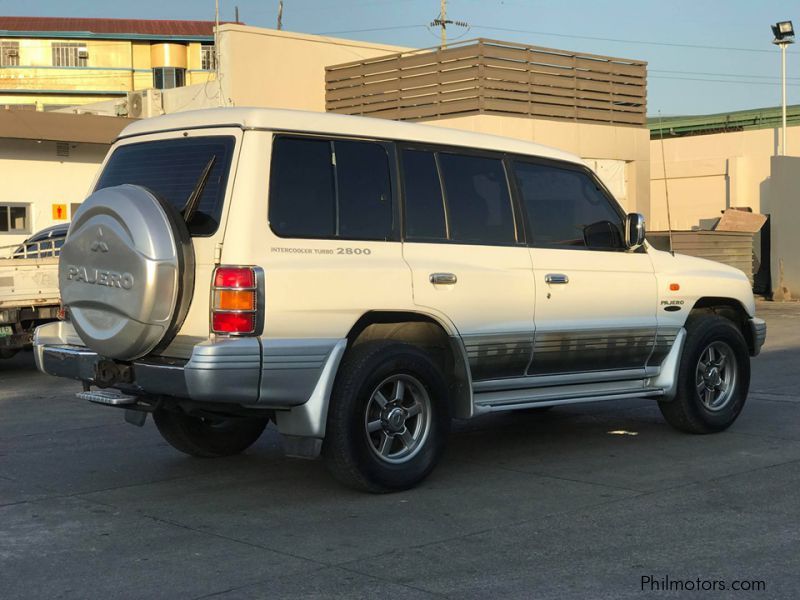
<svg viewBox="0 0 800 600"><path fill-rule="evenodd" d="M800 125L800 104L786 107L786 124ZM748 129L772 129L781 125L781 107L754 108L712 115L681 117L649 117L647 127L651 139L709 135Z"/></svg>

